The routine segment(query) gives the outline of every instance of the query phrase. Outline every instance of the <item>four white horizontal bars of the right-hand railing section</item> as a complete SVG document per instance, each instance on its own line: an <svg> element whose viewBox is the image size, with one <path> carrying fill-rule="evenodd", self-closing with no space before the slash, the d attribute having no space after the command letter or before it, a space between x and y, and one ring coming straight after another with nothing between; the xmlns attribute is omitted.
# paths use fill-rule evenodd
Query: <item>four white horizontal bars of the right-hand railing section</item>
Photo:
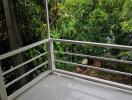
<svg viewBox="0 0 132 100"><path fill-rule="evenodd" d="M121 50L132 50L132 46L125 46L125 45L116 45L116 44L105 44L105 43L95 43L95 42L87 42L87 41L76 41L76 40L66 40L66 39L52 39L53 42L60 42L63 44L76 44L76 45L91 45L91 46L97 46L97 47L104 47L104 48L114 48L114 49L121 49ZM119 59L113 59L113 58L106 58L106 57L98 57L98 56L91 56L91 55L84 55L84 54L77 54L77 53L71 53L71 52L64 52L64 51L54 51L54 53L59 53L59 54L66 54L69 56L77 56L77 57L86 57L86 58L92 58L92 59L100 59L104 61L111 61L111 62L117 62L117 63L124 63L124 64L130 64L132 65L132 61L127 61L127 60L119 60ZM106 68L101 68L101 67L95 67L95 66L89 66L89 65L83 65L83 64L78 64L78 63L73 63L69 61L64 61L64 60L59 60L55 59L55 62L58 63L63 63L63 64L68 64L68 65L74 65L75 66L80 66L80 67L86 67L90 69L96 69L104 72L109 72L109 73L114 73L114 74L120 74L120 75L125 75L132 77L132 73L128 72L122 72L122 71L117 71L117 70L112 70L112 69L106 69ZM106 84L109 86L114 86L123 90L130 90L132 91L132 86L120 84L117 82L112 82L108 80L102 80L99 78L94 78L86 75L79 75L73 72L68 72L60 69L55 69L55 72L59 72L62 74L78 77L78 78L83 78L86 80L91 80L94 82L98 82L101 84Z"/></svg>

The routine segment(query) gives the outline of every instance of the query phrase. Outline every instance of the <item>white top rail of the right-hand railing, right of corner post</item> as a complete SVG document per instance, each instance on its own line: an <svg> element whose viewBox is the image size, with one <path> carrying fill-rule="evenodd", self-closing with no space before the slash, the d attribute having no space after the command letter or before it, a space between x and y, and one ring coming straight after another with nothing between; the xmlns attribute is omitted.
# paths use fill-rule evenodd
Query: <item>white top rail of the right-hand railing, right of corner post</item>
<svg viewBox="0 0 132 100"><path fill-rule="evenodd" d="M89 45L92 45L92 46L105 47L105 48L132 50L132 46L125 46L125 45L105 44L105 43L75 41L75 40L65 40L65 39L52 39L52 40L57 41L57 42L70 43L70 44L89 44Z"/></svg>

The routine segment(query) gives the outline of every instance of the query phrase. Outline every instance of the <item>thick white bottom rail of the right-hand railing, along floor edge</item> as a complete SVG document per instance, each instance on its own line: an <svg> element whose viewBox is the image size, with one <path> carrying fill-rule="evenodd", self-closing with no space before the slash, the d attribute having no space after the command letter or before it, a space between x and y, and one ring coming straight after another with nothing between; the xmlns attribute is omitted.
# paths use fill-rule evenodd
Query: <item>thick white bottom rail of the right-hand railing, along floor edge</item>
<svg viewBox="0 0 132 100"><path fill-rule="evenodd" d="M116 82L112 82L112 81L108 81L108 80L104 80L104 79L99 79L99 78L95 78L95 77L91 77L91 76L86 76L86 75L82 75L82 74L77 74L77 73L73 73L73 72L68 72L68 71L64 71L64 70L60 70L60 69L55 69L54 72L56 73L61 73L64 75L68 75L71 77L76 77L79 79L85 79L88 81L92 81L92 82L96 82L96 83L100 83L100 84L105 84L107 86L112 86L115 88L120 89L121 91L126 91L132 94L132 86L128 86L125 84L121 84L121 83L116 83Z"/></svg>

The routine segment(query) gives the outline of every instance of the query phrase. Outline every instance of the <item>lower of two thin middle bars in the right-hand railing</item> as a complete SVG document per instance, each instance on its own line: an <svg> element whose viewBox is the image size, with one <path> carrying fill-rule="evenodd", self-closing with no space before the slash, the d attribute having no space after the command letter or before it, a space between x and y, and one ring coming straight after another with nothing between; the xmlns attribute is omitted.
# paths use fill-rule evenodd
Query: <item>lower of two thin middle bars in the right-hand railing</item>
<svg viewBox="0 0 132 100"><path fill-rule="evenodd" d="M111 69L99 68L99 67L95 67L95 66L89 66L89 65L83 65L83 64L73 63L73 62L67 62L67 61L63 61L63 60L55 60L55 61L59 62L59 63L71 64L71 65L75 65L75 66L82 66L82 67L86 67L86 68L97 69L100 71L105 71L105 72L110 72L110 73L115 73L115 74L132 76L132 73L126 73L126 72L115 71L115 70L111 70Z"/></svg>

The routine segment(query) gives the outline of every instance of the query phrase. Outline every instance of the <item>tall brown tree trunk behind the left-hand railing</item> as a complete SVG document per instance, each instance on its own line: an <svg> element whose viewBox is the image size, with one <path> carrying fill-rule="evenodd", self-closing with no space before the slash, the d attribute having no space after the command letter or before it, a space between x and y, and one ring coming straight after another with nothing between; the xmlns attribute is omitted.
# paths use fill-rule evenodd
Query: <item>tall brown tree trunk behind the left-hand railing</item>
<svg viewBox="0 0 132 100"><path fill-rule="evenodd" d="M3 6L5 11L5 17L6 17L6 24L7 24L7 30L8 30L8 36L9 36L9 44L10 49L15 50L20 47L22 47L22 41L21 37L18 31L16 18L15 18L15 12L14 12L14 4L13 0L3 0ZM22 53L19 53L12 57L12 66L15 67L16 65L23 62L23 56ZM15 76L18 77L25 73L25 68L19 68L15 71ZM22 79L21 82L17 82L17 86L22 86L26 82L26 79Z"/></svg>

